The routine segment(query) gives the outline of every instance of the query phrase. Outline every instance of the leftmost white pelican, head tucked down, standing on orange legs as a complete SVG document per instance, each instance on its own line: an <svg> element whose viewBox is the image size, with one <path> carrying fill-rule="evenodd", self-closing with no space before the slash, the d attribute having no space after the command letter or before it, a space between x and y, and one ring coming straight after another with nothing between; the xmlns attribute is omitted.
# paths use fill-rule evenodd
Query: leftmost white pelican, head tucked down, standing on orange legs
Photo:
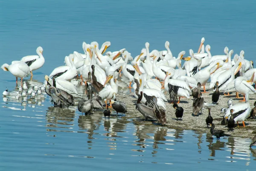
<svg viewBox="0 0 256 171"><path fill-rule="evenodd" d="M17 84L18 78L21 78L21 84L22 84L22 79L24 77L27 77L30 72L29 66L22 61L12 61L11 65L3 64L1 68L4 71L10 71L12 75L16 77L16 84Z"/></svg>

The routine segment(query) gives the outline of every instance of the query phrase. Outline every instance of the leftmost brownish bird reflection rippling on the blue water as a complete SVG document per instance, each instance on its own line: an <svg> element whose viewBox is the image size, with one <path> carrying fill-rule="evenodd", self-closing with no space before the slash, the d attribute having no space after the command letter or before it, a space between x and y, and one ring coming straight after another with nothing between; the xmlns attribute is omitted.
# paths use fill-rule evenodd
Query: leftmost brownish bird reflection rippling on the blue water
<svg viewBox="0 0 256 171"><path fill-rule="evenodd" d="M57 128L70 129L73 126L75 118L75 110L62 109L59 107L48 107L46 111L47 130L48 131L63 131L72 132L70 130L63 130ZM52 129L54 128L54 129Z"/></svg>

